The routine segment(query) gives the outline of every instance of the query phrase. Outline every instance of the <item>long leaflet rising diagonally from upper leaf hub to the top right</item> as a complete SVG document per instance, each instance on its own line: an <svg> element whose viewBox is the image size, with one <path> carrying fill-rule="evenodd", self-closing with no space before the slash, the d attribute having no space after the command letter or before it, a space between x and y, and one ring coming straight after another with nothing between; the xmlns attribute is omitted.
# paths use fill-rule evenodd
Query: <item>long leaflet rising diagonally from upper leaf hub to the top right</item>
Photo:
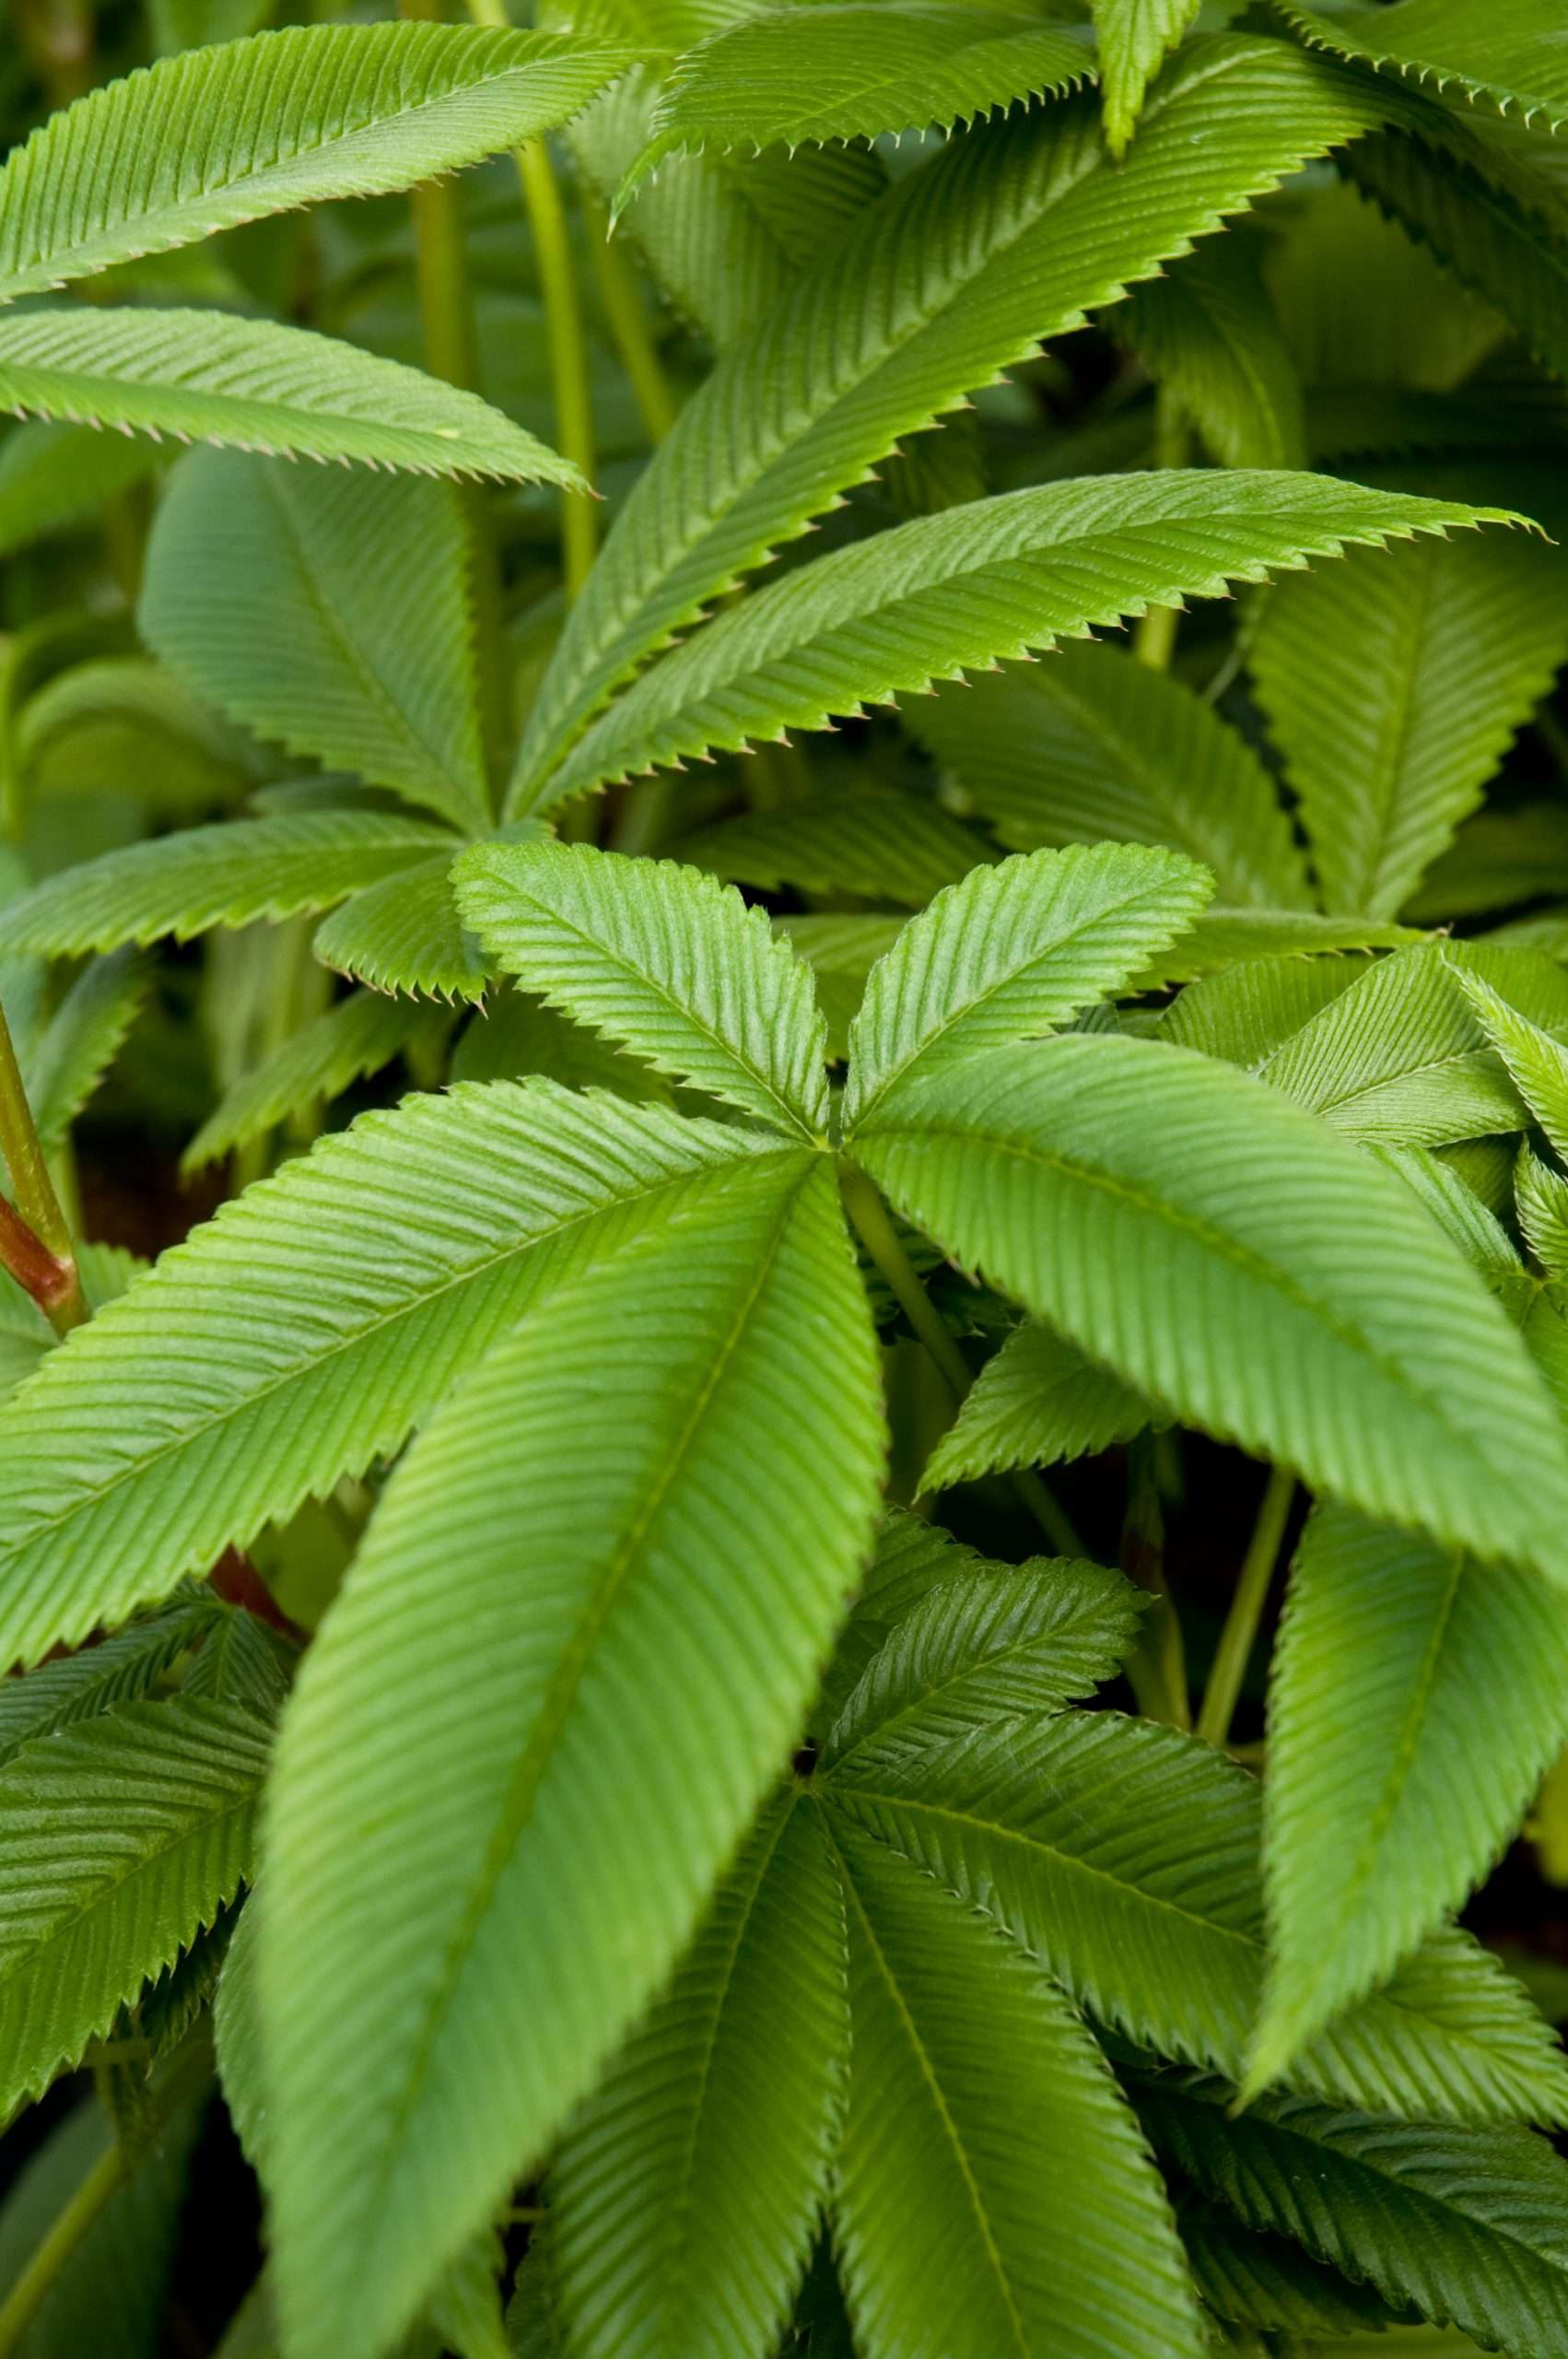
<svg viewBox="0 0 1568 2359"><path fill-rule="evenodd" d="M901 434L1372 130L1396 97L1306 50L1219 38L1172 68L1120 167L1094 97L1066 99L953 142L863 210L714 368L627 498L533 708L512 807L552 797L611 689Z"/></svg>

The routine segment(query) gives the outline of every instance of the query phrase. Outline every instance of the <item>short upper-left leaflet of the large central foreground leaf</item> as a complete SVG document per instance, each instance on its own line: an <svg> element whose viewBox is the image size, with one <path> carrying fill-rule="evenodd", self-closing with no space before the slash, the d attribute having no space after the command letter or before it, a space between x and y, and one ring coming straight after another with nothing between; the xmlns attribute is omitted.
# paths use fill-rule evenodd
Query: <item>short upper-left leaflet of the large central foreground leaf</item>
<svg viewBox="0 0 1568 2359"><path fill-rule="evenodd" d="M773 1130L825 1130L811 970L717 878L587 845L476 845L455 885L493 962L547 1005Z"/></svg>

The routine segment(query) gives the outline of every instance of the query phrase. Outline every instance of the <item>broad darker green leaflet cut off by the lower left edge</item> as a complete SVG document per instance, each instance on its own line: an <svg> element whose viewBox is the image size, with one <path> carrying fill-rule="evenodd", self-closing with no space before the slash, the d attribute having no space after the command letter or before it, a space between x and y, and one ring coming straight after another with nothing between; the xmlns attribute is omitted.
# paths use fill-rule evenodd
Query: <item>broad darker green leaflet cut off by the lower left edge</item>
<svg viewBox="0 0 1568 2359"><path fill-rule="evenodd" d="M250 1875L271 1732L127 1703L0 1774L0 2114L40 2097Z"/></svg>

